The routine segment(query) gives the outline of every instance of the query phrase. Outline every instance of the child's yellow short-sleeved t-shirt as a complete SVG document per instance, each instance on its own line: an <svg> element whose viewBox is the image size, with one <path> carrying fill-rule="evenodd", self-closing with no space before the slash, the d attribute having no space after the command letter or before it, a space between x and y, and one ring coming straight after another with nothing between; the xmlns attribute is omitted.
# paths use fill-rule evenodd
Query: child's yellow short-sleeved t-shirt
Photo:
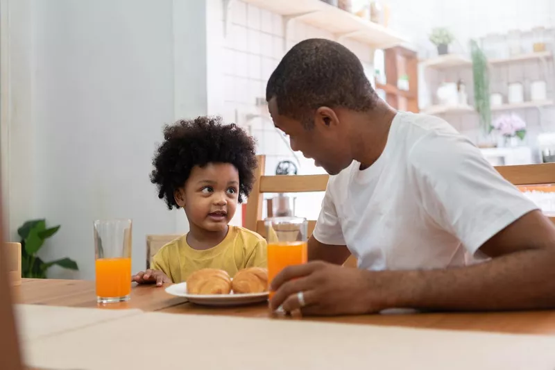
<svg viewBox="0 0 555 370"><path fill-rule="evenodd" d="M151 269L164 272L173 283L181 283L200 269L222 269L233 277L240 269L266 264L266 240L246 228L230 226L225 239L205 251L192 249L187 235L173 240L154 255Z"/></svg>

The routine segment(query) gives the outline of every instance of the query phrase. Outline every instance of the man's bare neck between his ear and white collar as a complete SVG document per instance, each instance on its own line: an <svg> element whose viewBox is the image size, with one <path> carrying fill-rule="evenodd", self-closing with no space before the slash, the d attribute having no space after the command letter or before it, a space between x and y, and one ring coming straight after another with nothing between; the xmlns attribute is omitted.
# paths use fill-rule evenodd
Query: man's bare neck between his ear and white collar
<svg viewBox="0 0 555 370"><path fill-rule="evenodd" d="M356 149L353 158L360 162L360 169L367 169L373 165L384 152L389 129L396 114L397 111L393 108L379 104L374 110L366 112L355 126L353 147Z"/></svg>

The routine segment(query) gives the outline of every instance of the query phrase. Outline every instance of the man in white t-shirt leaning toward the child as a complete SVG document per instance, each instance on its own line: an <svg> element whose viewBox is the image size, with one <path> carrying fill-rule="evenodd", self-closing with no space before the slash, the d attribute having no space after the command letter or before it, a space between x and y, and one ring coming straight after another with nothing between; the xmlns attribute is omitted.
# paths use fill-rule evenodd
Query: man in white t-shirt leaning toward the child
<svg viewBox="0 0 555 370"><path fill-rule="evenodd" d="M555 307L549 219L447 122L379 99L348 49L300 42L273 72L266 99L293 150L335 175L309 263L273 280L273 309ZM350 253L359 269L341 267ZM484 262L467 266L470 257Z"/></svg>

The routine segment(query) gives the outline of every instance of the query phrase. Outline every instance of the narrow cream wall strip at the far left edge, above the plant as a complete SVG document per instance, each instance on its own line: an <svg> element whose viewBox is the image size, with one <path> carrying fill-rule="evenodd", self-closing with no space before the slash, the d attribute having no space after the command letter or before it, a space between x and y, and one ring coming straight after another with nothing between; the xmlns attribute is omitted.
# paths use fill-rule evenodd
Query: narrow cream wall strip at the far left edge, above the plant
<svg viewBox="0 0 555 370"><path fill-rule="evenodd" d="M35 136L28 135L35 127L31 9L31 0L0 1L2 208L12 240L17 226L35 217Z"/></svg>

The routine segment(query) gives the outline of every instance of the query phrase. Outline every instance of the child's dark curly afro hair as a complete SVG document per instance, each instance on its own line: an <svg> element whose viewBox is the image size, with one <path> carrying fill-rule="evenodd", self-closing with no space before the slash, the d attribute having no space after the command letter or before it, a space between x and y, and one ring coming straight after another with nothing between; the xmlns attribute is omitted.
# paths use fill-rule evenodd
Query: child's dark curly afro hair
<svg viewBox="0 0 555 370"><path fill-rule="evenodd" d="M179 208L173 194L183 187L191 169L208 163L230 163L237 168L241 203L255 181L255 140L236 124L223 124L221 117L177 121L164 127L164 142L152 163L151 182L170 210Z"/></svg>

